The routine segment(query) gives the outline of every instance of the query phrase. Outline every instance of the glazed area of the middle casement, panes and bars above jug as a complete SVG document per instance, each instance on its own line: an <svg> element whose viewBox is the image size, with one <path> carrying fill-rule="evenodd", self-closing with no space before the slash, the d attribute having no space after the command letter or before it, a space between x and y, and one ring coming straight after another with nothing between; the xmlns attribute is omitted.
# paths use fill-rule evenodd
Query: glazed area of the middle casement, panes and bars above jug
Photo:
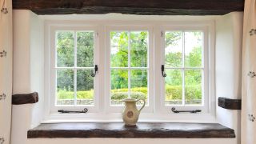
<svg viewBox="0 0 256 144"><path fill-rule="evenodd" d="M125 98L148 103L148 31L110 31L110 105Z"/></svg>

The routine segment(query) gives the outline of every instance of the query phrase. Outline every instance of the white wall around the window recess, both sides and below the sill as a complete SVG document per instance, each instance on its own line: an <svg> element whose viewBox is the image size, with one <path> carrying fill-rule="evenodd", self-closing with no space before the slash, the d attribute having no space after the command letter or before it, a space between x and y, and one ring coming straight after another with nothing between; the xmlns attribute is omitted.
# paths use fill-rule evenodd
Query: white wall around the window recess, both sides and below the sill
<svg viewBox="0 0 256 144"><path fill-rule="evenodd" d="M234 15L241 14L230 14L226 15L223 18L218 19L217 22L217 44L216 44L216 67L217 71L217 85L222 85L221 80L227 80L226 88L216 86L217 96L224 96L233 98L234 95L239 95L239 73L235 73L233 70L237 70L239 66L236 65L237 60L239 59L239 49L238 43L235 43L234 31L240 25L240 17ZM83 16L74 16L76 18L83 18ZM14 94L15 93L30 93L32 91L39 92L39 103L34 105L21 105L13 106L13 122L12 122L12 135L11 135L11 144L82 144L82 143L123 143L128 144L133 143L178 143L178 144L216 144L216 143L225 143L225 144L237 144L239 135L238 135L238 123L239 112L235 110L220 110L217 113L219 122L226 126L230 126L236 130L238 138L35 138L27 139L26 132L31 127L34 127L42 119L42 110L43 107L43 26L42 20L40 18L48 18L48 16L41 16L38 18L37 15L33 14L29 10L14 10ZM56 17L51 17L56 18ZM61 17L60 17L61 18ZM70 18L66 17L66 18ZM98 18L98 16L95 16ZM123 18L126 18L124 16ZM167 18L167 17L164 17ZM170 17L169 17L170 18ZM182 17L175 17L181 20ZM185 18L185 17L183 17ZM204 17L201 17L204 18ZM207 17L212 19L214 17ZM207 19L205 18L205 19ZM50 19L50 18L48 18ZM75 19L75 20L78 20ZM84 18L85 19L85 18ZM138 18L139 19L139 18ZM200 19L200 17L190 18L190 19ZM227 20L226 20L227 19ZM230 20L231 19L231 20ZM223 26L228 27L222 28ZM224 30L224 32L222 32ZM236 32L236 31L235 31ZM239 40L239 39L238 39ZM226 46L223 46L226 45ZM236 47L237 46L237 47ZM221 49L225 49L223 52ZM228 57L224 56L229 54ZM227 59L227 60L226 60ZM235 60L235 61L234 61ZM222 67L222 62L226 63L226 69ZM232 62L231 62L232 61ZM233 62L234 61L234 62ZM228 74L230 74L228 75ZM219 76L218 76L219 75ZM226 75L228 78L226 78ZM223 78L224 77L224 78ZM222 79L223 78L223 79ZM230 86L231 85L231 86ZM232 91L231 91L232 90ZM232 119L234 118L234 119ZM226 121L225 121L226 119Z"/></svg>

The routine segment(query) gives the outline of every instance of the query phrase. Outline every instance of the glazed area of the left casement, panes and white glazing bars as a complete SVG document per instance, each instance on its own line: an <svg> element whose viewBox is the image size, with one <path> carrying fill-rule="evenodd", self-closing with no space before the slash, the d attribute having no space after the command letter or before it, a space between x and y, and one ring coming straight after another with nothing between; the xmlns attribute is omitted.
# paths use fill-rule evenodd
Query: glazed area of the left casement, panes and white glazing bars
<svg viewBox="0 0 256 144"><path fill-rule="evenodd" d="M94 31L57 30L56 106L94 106Z"/></svg>

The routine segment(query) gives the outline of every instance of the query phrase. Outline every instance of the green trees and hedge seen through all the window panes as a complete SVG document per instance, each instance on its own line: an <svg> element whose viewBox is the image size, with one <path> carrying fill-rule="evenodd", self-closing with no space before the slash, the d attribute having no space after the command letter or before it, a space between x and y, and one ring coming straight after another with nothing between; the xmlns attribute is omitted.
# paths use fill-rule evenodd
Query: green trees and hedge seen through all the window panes
<svg viewBox="0 0 256 144"><path fill-rule="evenodd" d="M74 66L74 32L58 31L57 33L57 66ZM194 32L194 37L201 35ZM130 66L147 67L148 37L146 31L114 31L110 32L111 67L128 66L128 46L130 45ZM166 46L178 45L182 32L166 32ZM130 39L130 44L128 40ZM94 65L94 33L77 32L77 65L92 67ZM172 51L166 54L168 66L182 66L182 53ZM185 66L202 66L202 47L193 47L186 54ZM77 98L93 99L94 78L92 70L77 71ZM131 98L147 98L147 70L131 70ZM166 70L166 100L182 99L182 70ZM111 98L120 100L128 98L128 70L111 70ZM201 70L185 70L186 101L202 98ZM74 70L58 70L57 72L58 99L74 99Z"/></svg>

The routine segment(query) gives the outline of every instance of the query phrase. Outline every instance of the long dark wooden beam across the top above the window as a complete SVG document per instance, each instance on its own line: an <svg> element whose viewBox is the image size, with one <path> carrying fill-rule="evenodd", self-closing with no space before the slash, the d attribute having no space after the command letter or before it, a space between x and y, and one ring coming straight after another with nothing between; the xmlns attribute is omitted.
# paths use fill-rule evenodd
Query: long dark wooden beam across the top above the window
<svg viewBox="0 0 256 144"><path fill-rule="evenodd" d="M244 0L13 0L36 14L214 15L242 11Z"/></svg>

